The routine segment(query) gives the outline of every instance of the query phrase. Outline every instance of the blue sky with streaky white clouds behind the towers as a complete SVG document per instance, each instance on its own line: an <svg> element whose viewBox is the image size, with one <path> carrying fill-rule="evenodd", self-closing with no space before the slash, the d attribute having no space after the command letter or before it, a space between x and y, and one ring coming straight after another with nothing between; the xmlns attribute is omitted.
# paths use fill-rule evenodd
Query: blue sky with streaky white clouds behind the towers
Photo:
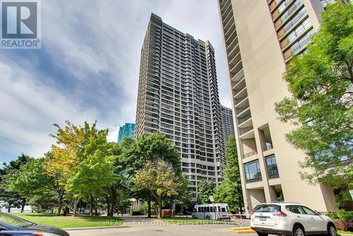
<svg viewBox="0 0 353 236"><path fill-rule="evenodd" d="M98 121L116 141L135 122L140 49L150 13L215 47L230 107L217 0L45 0L42 49L0 49L0 162L49 150L52 124Z"/></svg>

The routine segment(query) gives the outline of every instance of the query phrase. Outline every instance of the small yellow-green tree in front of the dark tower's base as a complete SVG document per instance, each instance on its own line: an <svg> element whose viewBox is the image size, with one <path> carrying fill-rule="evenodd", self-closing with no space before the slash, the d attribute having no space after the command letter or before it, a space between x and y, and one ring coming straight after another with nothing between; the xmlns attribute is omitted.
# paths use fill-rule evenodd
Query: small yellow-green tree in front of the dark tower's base
<svg viewBox="0 0 353 236"><path fill-rule="evenodd" d="M162 217L162 199L177 196L181 182L172 165L162 160L147 161L133 177L136 189L147 189L158 203L158 218Z"/></svg>

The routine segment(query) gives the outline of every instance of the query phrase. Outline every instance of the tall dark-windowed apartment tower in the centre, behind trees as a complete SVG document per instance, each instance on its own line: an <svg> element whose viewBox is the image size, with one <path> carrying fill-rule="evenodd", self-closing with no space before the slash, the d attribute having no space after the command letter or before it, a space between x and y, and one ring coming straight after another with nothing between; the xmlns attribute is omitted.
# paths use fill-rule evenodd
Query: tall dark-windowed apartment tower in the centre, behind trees
<svg viewBox="0 0 353 236"><path fill-rule="evenodd" d="M225 167L215 52L152 13L140 59L135 136L159 131L181 155L196 201L198 182Z"/></svg>

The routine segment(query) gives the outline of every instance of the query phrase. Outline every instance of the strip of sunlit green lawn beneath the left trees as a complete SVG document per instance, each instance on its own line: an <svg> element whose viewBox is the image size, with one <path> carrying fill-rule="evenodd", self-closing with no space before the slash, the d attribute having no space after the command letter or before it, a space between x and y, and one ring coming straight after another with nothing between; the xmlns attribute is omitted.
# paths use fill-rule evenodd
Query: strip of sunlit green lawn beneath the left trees
<svg viewBox="0 0 353 236"><path fill-rule="evenodd" d="M32 223L41 225L52 225L59 228L82 228L82 227L102 227L118 226L123 223L121 218L107 216L56 216L41 213L12 213L14 216L24 218ZM107 223L109 221L109 223Z"/></svg>

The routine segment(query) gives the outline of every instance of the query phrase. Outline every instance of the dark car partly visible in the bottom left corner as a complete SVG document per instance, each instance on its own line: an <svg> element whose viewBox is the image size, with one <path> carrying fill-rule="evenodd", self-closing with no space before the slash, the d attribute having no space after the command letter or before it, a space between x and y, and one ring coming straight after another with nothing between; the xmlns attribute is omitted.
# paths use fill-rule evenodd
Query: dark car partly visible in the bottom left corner
<svg viewBox="0 0 353 236"><path fill-rule="evenodd" d="M37 225L17 216L0 212L0 236L68 236L59 228L48 225Z"/></svg>

